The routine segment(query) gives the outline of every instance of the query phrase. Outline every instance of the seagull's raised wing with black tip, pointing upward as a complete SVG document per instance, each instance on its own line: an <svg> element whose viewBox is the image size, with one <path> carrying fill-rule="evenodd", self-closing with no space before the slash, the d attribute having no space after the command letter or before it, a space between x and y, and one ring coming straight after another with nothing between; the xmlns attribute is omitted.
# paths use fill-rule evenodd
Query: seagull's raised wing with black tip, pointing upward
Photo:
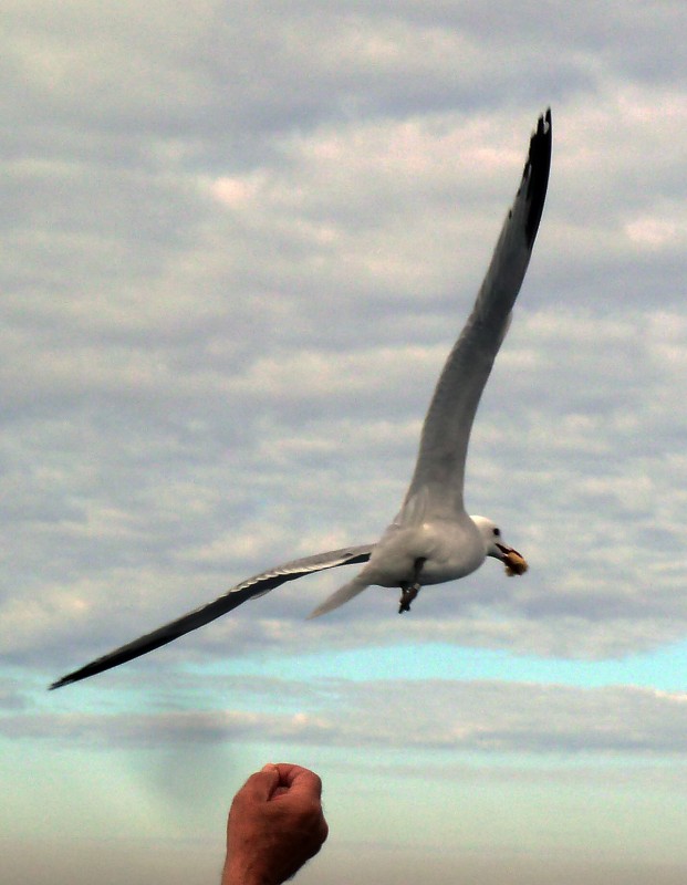
<svg viewBox="0 0 687 885"><path fill-rule="evenodd" d="M448 356L425 418L415 473L399 514L464 510L462 486L475 413L530 261L551 166L551 111L539 118L514 202L458 341ZM421 494L418 493L421 491Z"/></svg>

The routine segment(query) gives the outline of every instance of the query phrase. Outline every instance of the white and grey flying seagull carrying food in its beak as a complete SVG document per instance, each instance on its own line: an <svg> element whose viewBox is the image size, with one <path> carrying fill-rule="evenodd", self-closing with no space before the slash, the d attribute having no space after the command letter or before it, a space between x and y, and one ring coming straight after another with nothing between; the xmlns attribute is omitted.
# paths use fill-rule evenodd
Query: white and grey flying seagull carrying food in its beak
<svg viewBox="0 0 687 885"><path fill-rule="evenodd" d="M509 575L523 574L524 558L501 537L496 523L470 517L462 489L472 420L493 361L508 332L539 229L551 166L551 110L530 138L522 180L508 211L472 312L454 345L423 426L415 472L398 516L372 544L342 548L287 562L249 577L219 598L110 652L53 683L76 683L155 648L303 575L362 564L358 574L319 605L310 617L339 608L371 585L400 590L399 613L409 612L420 589L465 577L487 556Z"/></svg>

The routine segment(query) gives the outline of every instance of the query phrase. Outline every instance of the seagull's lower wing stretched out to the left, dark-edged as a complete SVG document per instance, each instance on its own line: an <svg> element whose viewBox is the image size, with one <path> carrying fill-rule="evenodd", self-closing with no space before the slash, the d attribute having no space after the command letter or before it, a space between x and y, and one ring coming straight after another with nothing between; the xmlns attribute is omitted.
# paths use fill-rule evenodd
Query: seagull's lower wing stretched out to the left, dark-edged
<svg viewBox="0 0 687 885"><path fill-rule="evenodd" d="M84 667L63 676L56 683L53 683L50 688L52 690L70 683L77 683L80 679L85 679L96 673L103 673L103 670L108 670L135 657L145 655L154 648L159 648L160 645L167 645L167 643L178 639L179 636L184 636L185 633L198 629L198 627L209 624L210 621L231 612L247 600L254 600L257 596L262 596L264 593L269 593L270 590L280 586L280 584L285 584L287 581L295 581L296 577L303 577L303 575L311 572L336 569L339 565L367 562L373 546L374 544L363 544L362 546L348 546L341 550L332 550L327 553L318 553L314 556L293 560L284 565L278 565L269 572L262 572L249 577L214 602L202 605L200 608L196 608L183 617L165 624L163 627L158 627L153 633L146 633L145 636L140 636L121 648L115 648L114 652L110 652Z"/></svg>

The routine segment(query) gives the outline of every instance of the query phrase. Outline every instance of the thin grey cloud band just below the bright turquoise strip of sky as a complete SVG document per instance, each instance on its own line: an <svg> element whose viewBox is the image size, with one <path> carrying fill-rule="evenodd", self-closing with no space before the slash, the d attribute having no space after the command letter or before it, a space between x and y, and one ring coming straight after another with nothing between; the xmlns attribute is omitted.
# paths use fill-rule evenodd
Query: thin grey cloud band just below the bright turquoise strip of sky
<svg viewBox="0 0 687 885"><path fill-rule="evenodd" d="M261 741L571 758L590 753L679 757L687 749L687 696L629 686L580 689L404 679L290 684L208 677L204 688L206 699L230 695L237 707L122 714L27 711L4 716L0 728L14 739L89 747ZM268 708L272 711L267 712Z"/></svg>

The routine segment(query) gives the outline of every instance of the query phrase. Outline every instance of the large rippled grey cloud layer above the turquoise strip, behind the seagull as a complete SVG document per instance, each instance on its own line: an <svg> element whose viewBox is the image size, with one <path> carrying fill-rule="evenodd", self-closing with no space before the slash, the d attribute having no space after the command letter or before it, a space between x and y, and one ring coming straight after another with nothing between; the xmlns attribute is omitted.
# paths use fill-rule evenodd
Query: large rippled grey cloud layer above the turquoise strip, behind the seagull
<svg viewBox="0 0 687 885"><path fill-rule="evenodd" d="M592 658L685 635L683 54L663 7L585 9L10 7L4 655L87 657L377 534L548 101L468 486L533 568L420 598L403 635ZM303 625L335 580L184 648L398 635L385 594Z"/></svg>

